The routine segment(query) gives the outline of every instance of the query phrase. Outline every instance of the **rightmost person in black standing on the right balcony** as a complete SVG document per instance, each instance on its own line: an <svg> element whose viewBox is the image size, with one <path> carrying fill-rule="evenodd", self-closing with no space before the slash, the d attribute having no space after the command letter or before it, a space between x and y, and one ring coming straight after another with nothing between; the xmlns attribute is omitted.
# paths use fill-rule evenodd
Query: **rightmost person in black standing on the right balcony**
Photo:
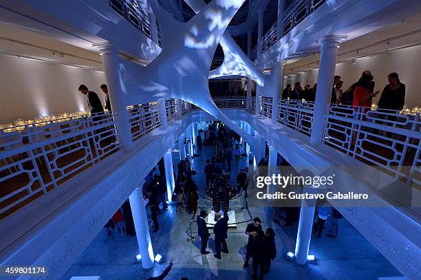
<svg viewBox="0 0 421 280"><path fill-rule="evenodd" d="M378 109L400 111L405 103L405 85L400 83L399 75L393 72L387 76L389 85L386 85L378 100Z"/></svg>

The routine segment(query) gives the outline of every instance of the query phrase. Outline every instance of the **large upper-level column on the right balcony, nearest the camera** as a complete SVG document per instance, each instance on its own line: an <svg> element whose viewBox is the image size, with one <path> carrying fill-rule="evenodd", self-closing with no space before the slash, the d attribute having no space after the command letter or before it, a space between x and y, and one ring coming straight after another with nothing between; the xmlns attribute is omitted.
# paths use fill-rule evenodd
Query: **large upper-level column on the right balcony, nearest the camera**
<svg viewBox="0 0 421 280"><path fill-rule="evenodd" d="M320 41L321 54L319 76L317 77L316 103L314 104L312 134L310 136L310 143L312 144L319 143L323 140L323 124L326 107L330 104L332 95L338 48L342 39L345 38L346 36L331 35L325 36L325 38Z"/></svg>

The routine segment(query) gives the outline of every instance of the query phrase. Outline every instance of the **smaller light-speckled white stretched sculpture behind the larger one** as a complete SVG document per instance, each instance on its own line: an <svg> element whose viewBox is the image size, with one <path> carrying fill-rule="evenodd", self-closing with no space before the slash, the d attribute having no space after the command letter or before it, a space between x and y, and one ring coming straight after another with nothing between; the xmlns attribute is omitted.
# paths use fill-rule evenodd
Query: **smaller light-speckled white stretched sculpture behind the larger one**
<svg viewBox="0 0 421 280"><path fill-rule="evenodd" d="M206 7L204 0L184 0L190 8L196 13ZM223 76L246 76L255 80L255 82L263 86L264 75L255 65L250 61L248 56L244 54L243 50L235 43L233 37L228 32L224 32L219 44L224 50L224 62L217 69L209 73L209 78L218 78Z"/></svg>

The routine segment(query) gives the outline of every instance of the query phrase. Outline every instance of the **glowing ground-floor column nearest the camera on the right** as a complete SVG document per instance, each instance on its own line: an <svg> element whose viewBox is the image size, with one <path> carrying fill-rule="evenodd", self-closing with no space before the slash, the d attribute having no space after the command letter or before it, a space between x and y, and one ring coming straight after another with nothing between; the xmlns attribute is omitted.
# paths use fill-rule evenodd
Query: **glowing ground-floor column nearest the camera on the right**
<svg viewBox="0 0 421 280"><path fill-rule="evenodd" d="M303 191L310 193L310 189L304 189ZM296 233L295 244L295 261L299 264L307 263L308 249L310 248L310 240L312 238L315 205L316 200L301 201L299 228Z"/></svg>

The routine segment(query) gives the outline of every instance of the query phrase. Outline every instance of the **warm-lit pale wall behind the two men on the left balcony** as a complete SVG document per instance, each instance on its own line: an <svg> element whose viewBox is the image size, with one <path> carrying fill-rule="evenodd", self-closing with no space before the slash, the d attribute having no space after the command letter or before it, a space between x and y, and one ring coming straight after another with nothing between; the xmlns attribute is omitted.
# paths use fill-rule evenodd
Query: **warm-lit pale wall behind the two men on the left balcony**
<svg viewBox="0 0 421 280"><path fill-rule="evenodd" d="M100 85L105 74L95 70L0 55L0 124L65 111L87 109L78 87L95 91L105 106Z"/></svg>

